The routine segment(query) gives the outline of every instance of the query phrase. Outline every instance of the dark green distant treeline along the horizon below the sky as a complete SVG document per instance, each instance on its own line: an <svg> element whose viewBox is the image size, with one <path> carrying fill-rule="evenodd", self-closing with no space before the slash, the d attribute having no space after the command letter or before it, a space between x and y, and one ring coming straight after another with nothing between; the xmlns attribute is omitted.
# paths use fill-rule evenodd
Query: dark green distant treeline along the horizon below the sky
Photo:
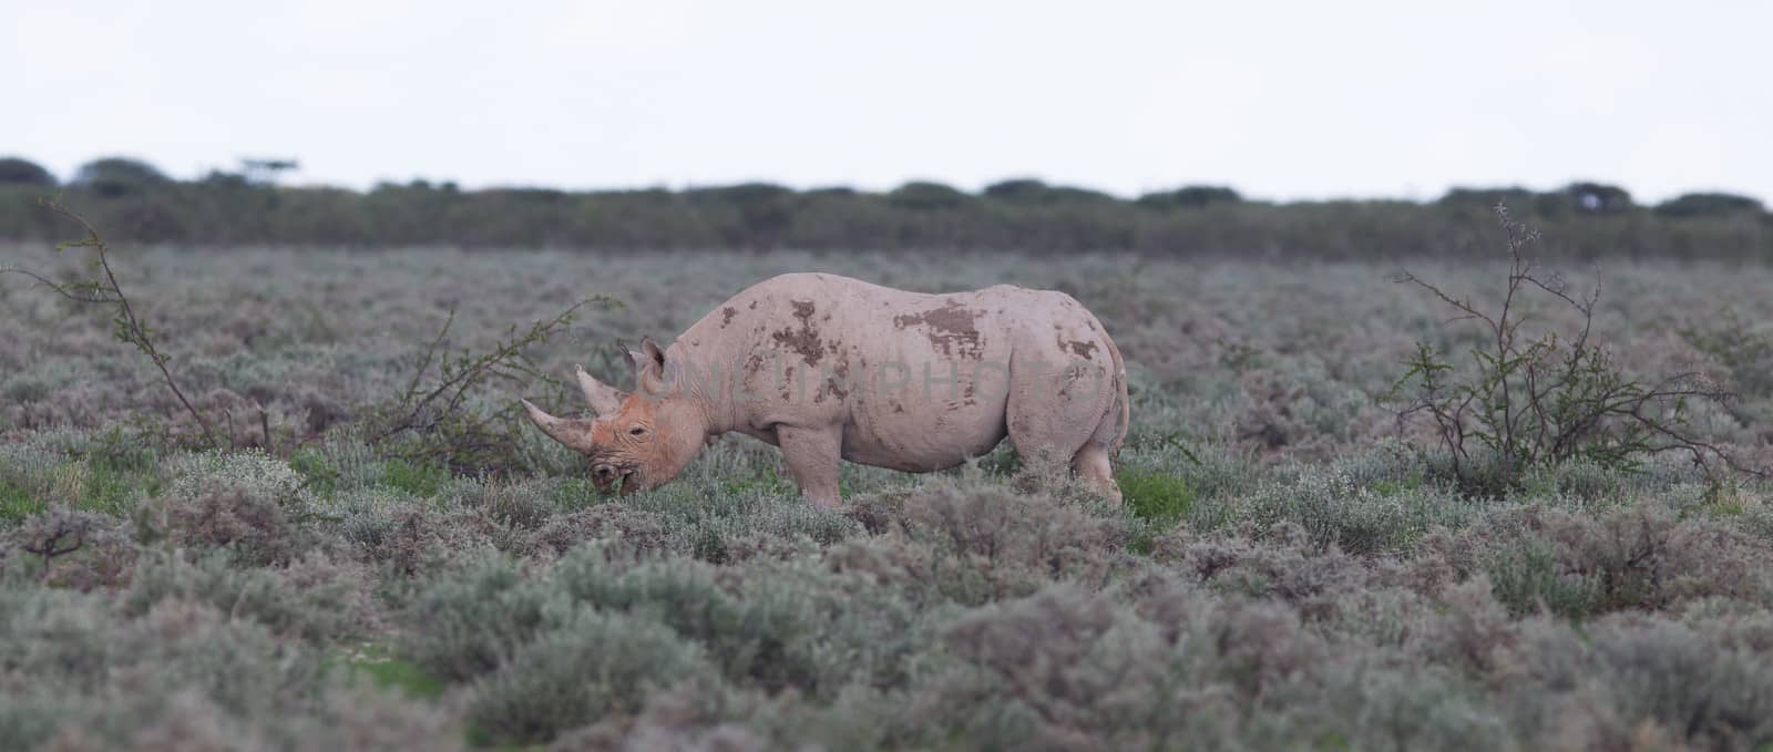
<svg viewBox="0 0 1773 752"><path fill-rule="evenodd" d="M112 239L287 247L562 247L1136 250L1165 255L1402 257L1500 252L1491 208L1505 202L1574 257L1773 261L1773 215L1750 197L1690 193L1656 206L1622 188L1555 192L1456 188L1434 202L1273 204L1230 188L1184 186L1119 199L1011 179L968 193L908 183L885 193L791 190L766 183L688 190L459 190L454 183L369 192L289 188L245 172L176 181L152 165L106 158L66 183L25 160L0 160L0 238L66 239L71 227L34 199L62 193Z"/></svg>

